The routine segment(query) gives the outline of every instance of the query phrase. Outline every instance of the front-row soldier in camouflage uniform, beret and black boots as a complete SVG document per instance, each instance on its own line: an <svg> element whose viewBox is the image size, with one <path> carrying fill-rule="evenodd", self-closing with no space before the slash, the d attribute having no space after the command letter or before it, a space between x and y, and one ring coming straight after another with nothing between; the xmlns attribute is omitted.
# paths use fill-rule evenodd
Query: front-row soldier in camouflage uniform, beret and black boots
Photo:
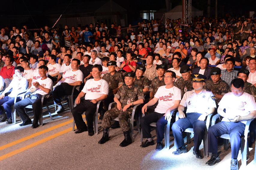
<svg viewBox="0 0 256 170"><path fill-rule="evenodd" d="M131 144L132 140L129 135L130 127L128 118L132 113L132 106L142 104L144 101L143 90L140 86L134 85L135 73L128 72L125 74L125 85L122 85L117 91L114 101L116 106L108 110L102 120L101 127L103 128L103 136L98 142L103 144L109 140L109 128L111 120L119 118L120 127L124 133L125 139L120 143L121 147Z"/></svg>

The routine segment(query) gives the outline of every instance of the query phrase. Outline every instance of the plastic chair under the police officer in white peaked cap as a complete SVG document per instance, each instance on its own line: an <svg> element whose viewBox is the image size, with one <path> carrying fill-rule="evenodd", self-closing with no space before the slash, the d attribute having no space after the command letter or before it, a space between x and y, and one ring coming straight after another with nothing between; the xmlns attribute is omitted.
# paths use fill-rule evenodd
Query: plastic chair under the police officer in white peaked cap
<svg viewBox="0 0 256 170"><path fill-rule="evenodd" d="M203 139L203 155L204 156L208 156L208 129L210 126L210 120L211 120L212 114L208 115L206 118L206 129L205 129L205 133L204 133L204 139ZM176 113L176 120L179 120L179 112ZM185 130L186 134L187 134L187 143L191 143L191 133L194 133L194 129L193 128L187 128ZM176 140L174 140L174 147L177 148L177 144L176 144Z"/></svg>

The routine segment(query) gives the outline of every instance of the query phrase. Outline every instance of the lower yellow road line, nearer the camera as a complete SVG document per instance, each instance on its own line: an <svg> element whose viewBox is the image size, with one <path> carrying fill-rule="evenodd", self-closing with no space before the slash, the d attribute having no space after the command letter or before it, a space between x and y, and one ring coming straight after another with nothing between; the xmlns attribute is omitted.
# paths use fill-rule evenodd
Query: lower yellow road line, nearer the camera
<svg viewBox="0 0 256 170"><path fill-rule="evenodd" d="M44 142L47 142L47 141L49 141L49 140L51 140L51 139L54 139L54 138L56 138L56 137L58 137L58 136L61 136L61 135L65 134L65 133L68 133L68 132L70 132L71 130L72 130L72 127L68 128L68 129L66 129L66 130L62 130L62 131L60 131L60 132L58 132L58 133L55 133L55 134L53 134L53 135L51 135L51 136L48 136L48 137L46 137L46 138L44 138L44 139L41 139L41 140L39 140L39 141L37 141L37 142L34 142L34 143L32 143L32 144L26 145L26 146L24 146L23 148L20 148L20 149L17 149L17 150L15 150L15 151L12 151L12 152L10 152L10 153L8 153L8 154L5 154L5 155L3 155L3 156L0 157L0 161L5 160L5 159L7 159L7 158L9 158L9 157L12 157L12 156L14 156L14 155L17 155L17 154L19 154L19 153L21 153L21 152L23 152L23 151L26 151L26 150L28 150L28 149L30 149L30 148L33 148L33 147L35 147L35 146L37 146L37 145L40 145L40 144L44 143Z"/></svg>

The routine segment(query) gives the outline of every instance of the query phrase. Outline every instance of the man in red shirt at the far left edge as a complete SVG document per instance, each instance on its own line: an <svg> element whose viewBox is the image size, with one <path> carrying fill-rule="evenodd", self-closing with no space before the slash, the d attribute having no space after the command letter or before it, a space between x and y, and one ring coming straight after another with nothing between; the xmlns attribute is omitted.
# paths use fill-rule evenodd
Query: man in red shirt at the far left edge
<svg viewBox="0 0 256 170"><path fill-rule="evenodd" d="M6 56L5 57L6 66L3 67L0 71L0 76L2 76L3 79L5 79L5 88L9 86L9 84L13 79L13 75L14 75L14 66L12 65L13 59L14 58L10 56Z"/></svg>

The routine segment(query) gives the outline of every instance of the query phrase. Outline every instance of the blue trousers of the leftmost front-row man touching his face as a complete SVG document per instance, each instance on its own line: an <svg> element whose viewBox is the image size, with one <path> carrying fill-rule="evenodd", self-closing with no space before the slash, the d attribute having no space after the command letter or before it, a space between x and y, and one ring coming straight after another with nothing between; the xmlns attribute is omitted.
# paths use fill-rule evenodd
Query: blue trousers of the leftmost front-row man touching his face
<svg viewBox="0 0 256 170"><path fill-rule="evenodd" d="M16 102L19 102L21 99L17 97ZM14 97L5 96L0 100L0 105L3 105L7 118L11 118L12 109L11 106L14 105ZM2 109L0 109L0 115L2 115Z"/></svg>

